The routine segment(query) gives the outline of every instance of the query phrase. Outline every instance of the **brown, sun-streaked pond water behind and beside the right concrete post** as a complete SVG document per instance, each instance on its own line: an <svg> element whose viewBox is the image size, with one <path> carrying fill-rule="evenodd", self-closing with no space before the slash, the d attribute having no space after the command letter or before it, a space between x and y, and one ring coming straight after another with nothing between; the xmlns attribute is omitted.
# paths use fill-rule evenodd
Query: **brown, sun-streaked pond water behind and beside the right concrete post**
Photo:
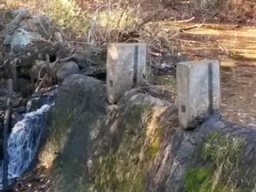
<svg viewBox="0 0 256 192"><path fill-rule="evenodd" d="M178 31L194 24L166 22L161 28ZM179 32L181 55L193 60L221 61L221 113L223 118L256 129L256 27L204 24ZM165 77L159 78L163 85Z"/></svg>

